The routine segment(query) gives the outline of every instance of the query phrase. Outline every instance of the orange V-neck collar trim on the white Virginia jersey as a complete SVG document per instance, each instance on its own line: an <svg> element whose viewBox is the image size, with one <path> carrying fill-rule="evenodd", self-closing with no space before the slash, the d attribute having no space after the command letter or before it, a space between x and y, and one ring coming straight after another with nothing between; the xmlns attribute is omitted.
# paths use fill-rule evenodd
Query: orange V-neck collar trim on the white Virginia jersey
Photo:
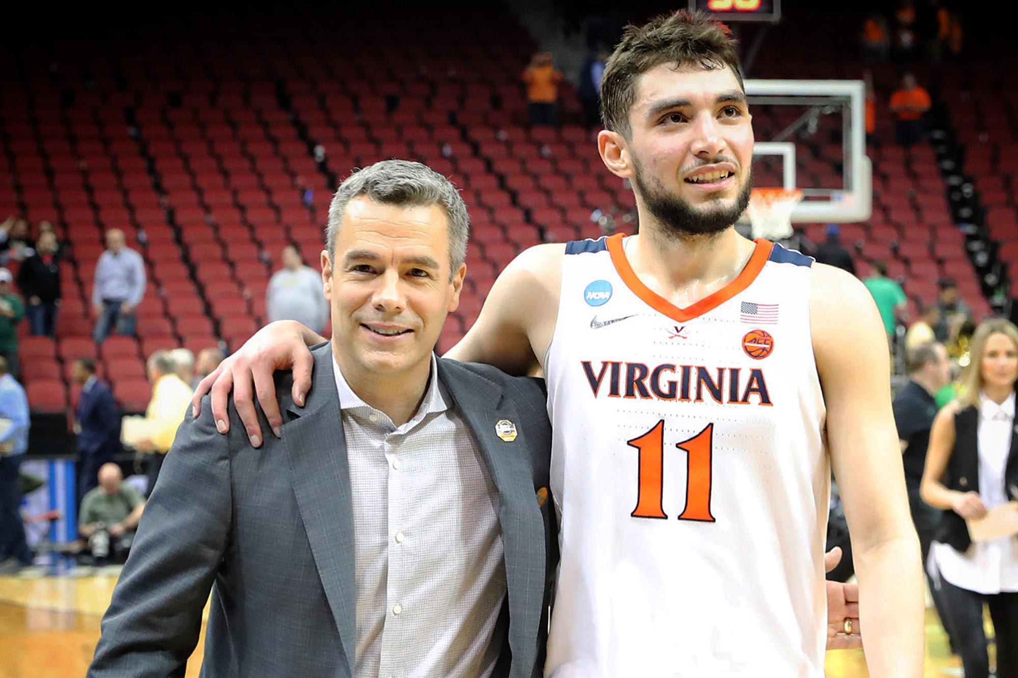
<svg viewBox="0 0 1018 678"><path fill-rule="evenodd" d="M612 264L615 266L615 271L619 274L619 277L622 278L622 282L648 306L679 323L686 323L714 310L725 301L728 301L749 287L756 280L756 276L759 275L760 271L764 270L764 265L770 260L774 247L774 243L770 240L756 239L756 248L753 249L752 256L749 257L749 262L746 263L745 268L742 269L742 272L732 282L713 294L703 297L696 303L682 308L644 285L636 276L632 266L629 265L629 260L626 259L625 250L622 248L622 233L616 233L604 238L605 244L608 246L608 251L612 256Z"/></svg>

